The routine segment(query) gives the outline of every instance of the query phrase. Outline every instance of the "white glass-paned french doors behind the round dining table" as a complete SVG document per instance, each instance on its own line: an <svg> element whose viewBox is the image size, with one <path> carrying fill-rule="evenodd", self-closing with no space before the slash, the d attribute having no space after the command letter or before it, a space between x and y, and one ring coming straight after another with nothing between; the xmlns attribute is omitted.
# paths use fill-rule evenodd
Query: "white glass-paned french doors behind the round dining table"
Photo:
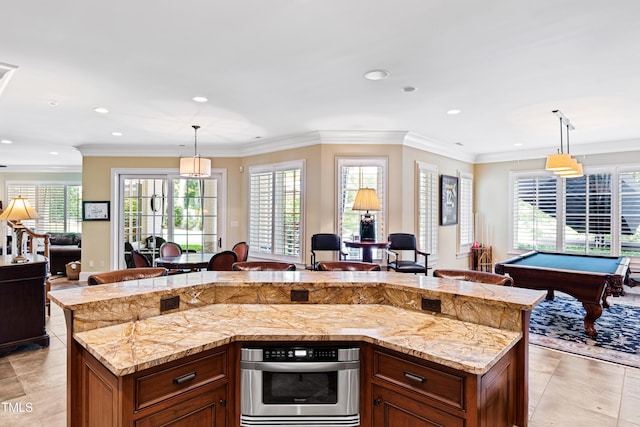
<svg viewBox="0 0 640 427"><path fill-rule="evenodd" d="M183 251L214 253L223 244L223 175L188 179L170 174L120 174L117 268L137 250L151 264L165 241Z"/></svg>

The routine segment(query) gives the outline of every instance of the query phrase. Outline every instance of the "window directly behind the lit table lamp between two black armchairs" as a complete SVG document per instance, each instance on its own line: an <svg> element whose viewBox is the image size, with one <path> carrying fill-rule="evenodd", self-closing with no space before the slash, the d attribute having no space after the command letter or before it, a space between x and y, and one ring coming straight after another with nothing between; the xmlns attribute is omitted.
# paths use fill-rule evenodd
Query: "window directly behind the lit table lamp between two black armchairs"
<svg viewBox="0 0 640 427"><path fill-rule="evenodd" d="M360 216L365 212L352 210L353 202L360 188L373 188L380 201L380 210L370 212L375 218L376 240L386 239L386 158L339 158L338 173L338 234L342 239L352 239L360 235ZM350 249L350 256L360 258L359 249ZM373 250L373 258L380 259L381 251Z"/></svg>

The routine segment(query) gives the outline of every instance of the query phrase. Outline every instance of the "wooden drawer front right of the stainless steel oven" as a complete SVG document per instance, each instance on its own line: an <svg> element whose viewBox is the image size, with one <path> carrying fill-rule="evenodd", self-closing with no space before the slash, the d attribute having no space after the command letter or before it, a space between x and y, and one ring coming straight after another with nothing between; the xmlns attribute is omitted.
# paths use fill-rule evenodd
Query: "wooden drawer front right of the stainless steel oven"
<svg viewBox="0 0 640 427"><path fill-rule="evenodd" d="M458 376L390 354L374 352L373 376L464 409L464 376Z"/></svg>

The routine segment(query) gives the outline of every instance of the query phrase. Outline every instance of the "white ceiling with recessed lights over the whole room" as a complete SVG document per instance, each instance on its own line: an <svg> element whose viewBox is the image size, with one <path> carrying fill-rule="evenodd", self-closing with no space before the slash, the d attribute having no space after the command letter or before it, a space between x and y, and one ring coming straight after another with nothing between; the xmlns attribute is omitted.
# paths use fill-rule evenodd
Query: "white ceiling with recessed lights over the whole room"
<svg viewBox="0 0 640 427"><path fill-rule="evenodd" d="M18 66L0 94L0 139L13 141L0 144L5 171L77 167L73 147L191 154L192 124L203 155L313 131L394 131L476 162L541 157L560 145L554 109L576 128L571 154L640 147L638 0L0 0L0 10L0 63ZM363 78L377 68L389 78Z"/></svg>

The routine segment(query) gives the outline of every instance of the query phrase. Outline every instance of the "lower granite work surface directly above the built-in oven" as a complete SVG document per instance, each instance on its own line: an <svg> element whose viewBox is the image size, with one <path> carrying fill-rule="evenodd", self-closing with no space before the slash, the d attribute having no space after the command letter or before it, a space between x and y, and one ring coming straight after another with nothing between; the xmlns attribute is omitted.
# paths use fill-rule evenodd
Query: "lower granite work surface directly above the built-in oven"
<svg viewBox="0 0 640 427"><path fill-rule="evenodd" d="M123 376L234 341L364 341L484 374L521 338L384 305L214 304L74 334Z"/></svg>

